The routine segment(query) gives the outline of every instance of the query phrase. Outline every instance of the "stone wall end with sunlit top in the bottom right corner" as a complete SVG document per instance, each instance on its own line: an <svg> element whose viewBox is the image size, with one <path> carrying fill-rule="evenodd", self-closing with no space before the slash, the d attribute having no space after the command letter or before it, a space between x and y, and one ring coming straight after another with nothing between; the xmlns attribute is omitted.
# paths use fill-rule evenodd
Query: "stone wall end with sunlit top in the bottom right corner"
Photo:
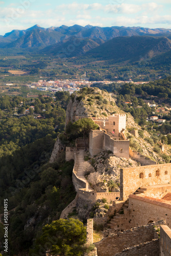
<svg viewBox="0 0 171 256"><path fill-rule="evenodd" d="M160 226L160 255L170 256L171 254L171 229L166 225Z"/></svg>

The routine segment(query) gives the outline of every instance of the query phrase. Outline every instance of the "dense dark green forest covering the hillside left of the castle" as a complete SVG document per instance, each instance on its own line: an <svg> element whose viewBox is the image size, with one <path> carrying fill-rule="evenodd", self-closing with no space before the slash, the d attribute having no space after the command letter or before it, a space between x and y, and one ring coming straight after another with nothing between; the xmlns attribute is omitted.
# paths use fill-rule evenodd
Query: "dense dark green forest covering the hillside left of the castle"
<svg viewBox="0 0 171 256"><path fill-rule="evenodd" d="M57 220L75 197L73 161L65 162L61 154L55 165L49 163L57 135L65 127L69 99L65 92L56 93L56 99L42 95L35 100L0 98L0 214L7 198L11 255L26 255L42 226ZM25 114L28 109L30 113ZM2 224L0 241L1 252Z"/></svg>

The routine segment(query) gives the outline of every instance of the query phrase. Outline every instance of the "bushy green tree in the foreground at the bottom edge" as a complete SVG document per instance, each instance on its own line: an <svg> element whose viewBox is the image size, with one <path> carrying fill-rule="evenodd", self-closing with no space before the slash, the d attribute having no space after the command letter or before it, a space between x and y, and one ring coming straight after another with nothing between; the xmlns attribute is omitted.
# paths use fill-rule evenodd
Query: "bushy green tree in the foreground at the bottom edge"
<svg viewBox="0 0 171 256"><path fill-rule="evenodd" d="M43 227L42 231L42 236L36 240L34 253L41 250L41 255L46 255L46 251L60 256L82 255L83 245L86 243L86 227L79 220L53 221L50 225Z"/></svg>

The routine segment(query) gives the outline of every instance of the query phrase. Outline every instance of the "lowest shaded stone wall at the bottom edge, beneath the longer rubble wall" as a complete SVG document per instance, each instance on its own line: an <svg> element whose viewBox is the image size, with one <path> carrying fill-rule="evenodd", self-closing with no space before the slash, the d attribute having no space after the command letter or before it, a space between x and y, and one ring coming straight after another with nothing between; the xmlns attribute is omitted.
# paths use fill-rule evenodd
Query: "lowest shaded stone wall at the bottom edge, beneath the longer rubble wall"
<svg viewBox="0 0 171 256"><path fill-rule="evenodd" d="M133 256L133 255L150 255L159 256L159 239L154 239L150 242L141 243L139 245L127 248L122 252L118 252L115 256Z"/></svg>

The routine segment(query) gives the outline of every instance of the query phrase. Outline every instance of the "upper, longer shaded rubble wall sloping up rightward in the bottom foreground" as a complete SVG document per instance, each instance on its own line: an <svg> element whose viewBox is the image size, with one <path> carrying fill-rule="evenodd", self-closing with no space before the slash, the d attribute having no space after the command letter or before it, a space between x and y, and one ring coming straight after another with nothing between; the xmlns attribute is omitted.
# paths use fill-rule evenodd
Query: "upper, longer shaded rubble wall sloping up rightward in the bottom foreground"
<svg viewBox="0 0 171 256"><path fill-rule="evenodd" d="M153 226L154 226L154 223L143 226L143 227L136 227L130 230L119 232L117 234L112 234L111 236L102 239L101 241L95 243L97 247L98 256L113 256L115 255L115 253L121 252L122 250L128 247L132 247L135 245L139 245L141 243L152 241L155 238L155 232L156 232ZM129 255L138 255L138 254L129 254ZM139 254L139 255L144 255L144 254ZM148 253L147 255L151 255L151 254Z"/></svg>

